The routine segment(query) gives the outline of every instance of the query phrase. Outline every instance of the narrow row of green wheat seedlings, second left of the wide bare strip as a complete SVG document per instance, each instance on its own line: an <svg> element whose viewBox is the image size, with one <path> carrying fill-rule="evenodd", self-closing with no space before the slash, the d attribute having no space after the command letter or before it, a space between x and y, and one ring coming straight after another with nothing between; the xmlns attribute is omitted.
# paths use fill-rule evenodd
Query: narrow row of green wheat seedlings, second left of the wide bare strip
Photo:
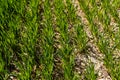
<svg viewBox="0 0 120 80"><path fill-rule="evenodd" d="M64 78L72 79L72 58L70 59L72 46L69 45L69 35L68 35L68 22L67 22L67 14L63 13L65 11L65 5L63 1L56 0L55 1L55 10L57 17L57 26L59 27L59 32L61 35L60 44L62 48L60 49L59 55L62 58L63 70L64 70ZM60 5L58 5L60 4ZM60 16L62 15L62 16Z"/></svg>

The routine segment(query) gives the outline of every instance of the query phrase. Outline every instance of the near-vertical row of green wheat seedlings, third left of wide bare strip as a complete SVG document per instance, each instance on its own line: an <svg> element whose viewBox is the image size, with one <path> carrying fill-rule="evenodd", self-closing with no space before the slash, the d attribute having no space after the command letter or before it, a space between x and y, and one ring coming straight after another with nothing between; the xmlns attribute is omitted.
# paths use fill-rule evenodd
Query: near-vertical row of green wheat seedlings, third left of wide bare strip
<svg viewBox="0 0 120 80"><path fill-rule="evenodd" d="M51 4L49 0L44 2L44 20L43 20L43 29L41 36L41 47L43 58L40 58L41 65L43 65L42 70L42 79L52 80L53 72L53 52L54 52L54 43L53 43L53 24L52 24L52 11Z"/></svg>

